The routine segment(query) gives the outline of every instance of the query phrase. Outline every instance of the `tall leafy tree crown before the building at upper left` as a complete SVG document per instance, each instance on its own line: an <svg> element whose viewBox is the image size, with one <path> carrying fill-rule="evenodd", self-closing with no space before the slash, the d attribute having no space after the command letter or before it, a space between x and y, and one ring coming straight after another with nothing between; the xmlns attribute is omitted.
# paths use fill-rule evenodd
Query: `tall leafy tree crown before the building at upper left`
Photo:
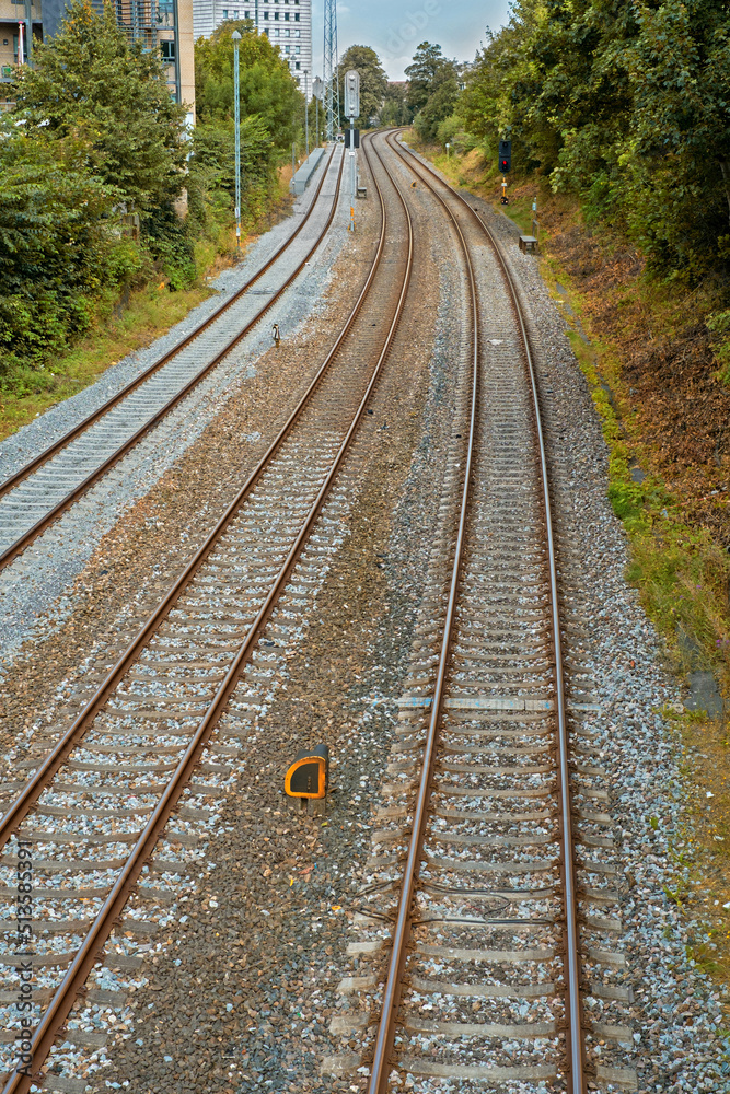
<svg viewBox="0 0 730 1094"><path fill-rule="evenodd" d="M176 197L187 155L185 108L170 96L160 59L130 43L111 4L72 0L61 31L38 44L15 88L26 132L85 142L91 173L140 211Z"/></svg>

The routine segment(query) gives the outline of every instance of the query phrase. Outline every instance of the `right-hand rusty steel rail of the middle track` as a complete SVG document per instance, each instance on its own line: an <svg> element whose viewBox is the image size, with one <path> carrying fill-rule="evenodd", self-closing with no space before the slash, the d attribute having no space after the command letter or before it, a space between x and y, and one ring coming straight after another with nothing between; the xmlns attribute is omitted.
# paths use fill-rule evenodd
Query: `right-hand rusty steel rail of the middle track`
<svg viewBox="0 0 730 1094"><path fill-rule="evenodd" d="M364 141L363 141L363 151L366 154L366 160L368 161L368 165L371 166L368 154L368 147ZM382 160L376 149L374 151L382 164ZM287 559L282 563L282 567L268 592L264 605L259 609L256 619L252 624L246 635L246 638L244 639L242 645L240 647L239 652L225 675L225 678L221 682L218 691L216 693L216 696L212 702L210 703L206 714L199 722L195 731L195 734L192 737L189 744L187 745L185 753L181 758L173 776L171 777L170 782L162 798L158 802L158 805L155 806L153 813L151 814L139 839L137 840L137 843L132 848L129 858L125 866L123 868L121 873L119 874L117 881L115 882L113 888L111 889L108 896L106 897L104 905L100 909L96 919L94 920L86 936L84 938L82 945L80 946L76 957L73 958L69 968L67 969L61 984L56 990L54 998L51 999L46 1012L44 1013L40 1020L40 1023L38 1024L33 1034L30 1054L33 1058L34 1069L37 1069L39 1064L43 1063L44 1060L46 1059L59 1028L62 1026L63 1022L68 1017L68 1014L70 1013L71 1008L73 1006L77 996L79 994L80 991L83 990L83 986L89 976L89 973L91 971L94 964L99 959L101 948L104 946L114 927L116 926L116 922L118 921L118 916L120 915L127 899L129 898L129 895L137 883L137 880L142 871L143 865L146 864L146 862L149 861L150 856L152 854L152 851L154 849L154 845L159 839L161 833L163 831L181 794L183 793L187 784L187 781L189 780L195 769L196 764L199 760L200 753L202 752L218 720L220 719L231 694L236 687L239 676L246 661L250 659L255 642L258 639L264 626L266 625L266 621L270 616L270 613L281 593L281 590L286 585L289 575L291 573L291 570L293 569L297 559L301 554L301 550L310 536L314 522L316 521L316 517L318 516L322 507L326 501L332 485L336 478L337 472L339 470L339 467L350 446L357 427L362 416L364 415L364 411L372 396L375 384L380 379L383 364L387 358L401 317L403 315L403 310L405 306L405 300L408 292L408 287L410 284L410 276L413 269L413 224L410 216L408 213L405 199L397 183L389 172L387 167L384 164L382 164L382 166L385 171L385 174L391 178L393 187L401 200L401 203L403 206L406 216L406 223L408 225L408 252L406 259L406 269L403 277L403 283L401 287L398 301L395 311L393 313L393 318L391 321L383 348L374 365L364 395L360 400L355 417L337 451L337 454L333 461L329 472L327 473L327 476L317 493L317 497L308 516L305 517L304 523L302 524L299 531L297 539L294 540L294 544L292 545L287 556ZM373 177L375 190L378 191L382 210L381 238L375 257L375 263L373 263L373 268L371 269L371 274L366 283L366 288L363 289L360 298L358 299L356 309L348 317L346 326L343 329L343 333L337 340L337 345L341 342L345 335L351 328L352 323L355 321L355 316L357 315L357 312L359 312L360 304L364 299L364 293L367 292L367 289L372 282L374 270L378 268L378 266L380 266L380 259L383 253L383 245L387 228L385 203L383 201L383 195L378 184L378 179L375 178L375 174L372 170L371 174ZM334 349L328 354L327 360L332 358L333 353ZM235 505L232 507L232 509L234 508ZM20 1063L15 1066L13 1073L10 1075L8 1082L3 1086L2 1094L25 1094L25 1092L27 1092L31 1089L31 1085L34 1083L34 1081L37 1081L37 1079L39 1078L37 1073L35 1076L34 1075L28 1076L26 1074L22 1074L19 1071L20 1067L21 1067Z"/></svg>

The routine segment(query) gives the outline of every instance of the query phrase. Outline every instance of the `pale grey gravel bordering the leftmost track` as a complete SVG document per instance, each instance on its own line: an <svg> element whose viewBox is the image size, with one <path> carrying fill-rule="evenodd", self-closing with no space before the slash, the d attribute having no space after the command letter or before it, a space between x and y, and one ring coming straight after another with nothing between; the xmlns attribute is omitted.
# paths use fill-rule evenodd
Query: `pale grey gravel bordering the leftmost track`
<svg viewBox="0 0 730 1094"><path fill-rule="evenodd" d="M326 198L324 199L326 201ZM278 322L287 340L300 342L302 328L306 319L318 314L323 306L332 279L333 264L344 246L348 244L347 224L349 222L349 198L345 188L340 191L338 210L327 238L312 258L306 274L302 272L296 284L278 301L266 318L247 335L243 341L228 354L218 369L213 370L165 419L144 437L107 475L93 486L83 498L69 511L62 514L46 533L10 566L0 572L0 604L3 619L2 665L0 672L7 672L14 654L27 639L42 640L48 633L48 626L58 626L71 610L67 591L74 578L80 574L91 559L93 551L117 523L120 515L134 505L138 499L149 494L152 487L160 481L165 472L170 470L181 459L185 451L201 435L220 415L225 404L231 399L248 399L252 388L262 389L258 375L263 368L262 358L271 345L270 324ZM271 234L274 241L263 237L254 245L255 256L246 256L241 267L227 271L223 277L230 287L237 288L250 276L252 269L260 265L260 259L268 257L281 242L282 225L277 225ZM292 228L289 225L288 231ZM266 241L265 243L263 241ZM260 253L258 253L260 252ZM220 280L220 279L219 279ZM208 307L210 302L200 305ZM201 317L200 310L195 313L195 322ZM190 316L185 323L194 322ZM174 331L158 339L146 353L149 363L178 340L178 325ZM115 366L116 368L116 366ZM306 368L306 365L305 365ZM273 370L269 366L267 381L270 383ZM108 375L105 373L105 377ZM115 374L116 375L116 374ZM44 419L54 417L50 432L33 433L36 428L25 427L5 442L23 444L23 458L35 454L38 445L43 446L58 435L59 421L61 432L68 429L77 418L69 417L82 408L84 415L111 391L118 389L115 379L108 388L103 377L85 392L73 399L60 404L54 410L44 415ZM124 381L129 376L125 373ZM291 393L297 391L303 375L294 373L290 377L290 391L283 391L277 403L281 407L293 406ZM70 404L77 404L70 407ZM94 401L96 400L96 401ZM68 411L63 408L69 407ZM67 415L59 419L57 415ZM270 420L270 412L265 412L264 406L258 415L252 416L251 428L245 438L252 451L258 451L262 435L262 421ZM40 422L40 419L38 419ZM40 429L40 426L37 427ZM45 427L44 427L45 428ZM31 431L31 432L28 432ZM51 435L53 433L53 435ZM20 438L20 440L18 440ZM10 469L10 468L9 468ZM192 533L194 536L195 533ZM197 537L196 537L197 538ZM53 610L48 615L48 605ZM53 619L53 624L50 620Z"/></svg>

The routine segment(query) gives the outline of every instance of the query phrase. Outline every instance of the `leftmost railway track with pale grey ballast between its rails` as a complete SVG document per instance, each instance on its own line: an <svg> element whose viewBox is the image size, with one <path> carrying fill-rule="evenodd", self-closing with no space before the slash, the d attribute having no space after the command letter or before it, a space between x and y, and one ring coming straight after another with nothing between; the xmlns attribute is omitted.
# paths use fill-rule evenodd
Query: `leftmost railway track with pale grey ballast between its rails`
<svg viewBox="0 0 730 1094"><path fill-rule="evenodd" d="M344 162L333 148L306 213L245 284L121 391L0 482L0 569L118 464L281 299L332 224ZM271 283L255 288L265 275Z"/></svg>

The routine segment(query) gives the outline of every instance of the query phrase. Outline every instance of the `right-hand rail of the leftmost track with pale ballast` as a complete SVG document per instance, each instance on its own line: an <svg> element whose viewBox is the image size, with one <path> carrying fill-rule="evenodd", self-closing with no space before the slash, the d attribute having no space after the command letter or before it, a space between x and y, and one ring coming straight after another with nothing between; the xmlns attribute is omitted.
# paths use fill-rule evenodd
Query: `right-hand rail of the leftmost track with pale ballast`
<svg viewBox="0 0 730 1094"><path fill-rule="evenodd" d="M50 524L53 524L61 515L61 513L66 512L67 509L70 509L70 507L73 505L79 500L79 498L81 498L82 494L84 494L86 490L89 490L94 485L94 482L96 482L100 478L102 478L116 463L118 463L119 459L121 459L121 457L126 455L126 453L129 452L130 449L132 449L136 444L138 444L142 440L142 438L150 432L150 430L154 429L160 423L160 421L162 421L162 419L165 418L170 414L170 411L177 406L178 403L181 403L187 395L189 395L193 388L196 387L201 380L205 380L205 377L208 375L209 372L211 372L217 365L220 364L220 362L227 357L228 353L231 352L231 350L241 341L241 339L245 338L248 331L252 330L253 327L255 327L256 324L260 322L260 319L266 315L269 309L274 306L277 300L279 300L283 295L287 289L291 286L292 281L294 281L296 278L301 274L302 269L304 268L311 256L314 254L316 248L320 246L322 240L329 230L329 225L332 224L332 221L335 217L335 212L337 210L337 201L339 198L344 166L345 166L345 158L343 156L339 164L339 172L337 174L337 188L335 191L335 196L333 198L329 216L327 217L327 221L324 224L322 232L314 241L310 249L306 252L302 260L299 263L297 268L286 279L283 284L280 286L275 293L273 293L270 299L259 309L256 315L252 319L250 319L248 323L246 323L241 328L241 330L239 330L239 333L234 335L233 338L231 338L227 342L223 349L220 350L220 352L217 353L216 357L211 361L209 361L208 364L204 369L201 369L200 372L198 372L195 376L193 376L192 380L189 380L184 387L182 387L175 395L173 395L172 398L170 398L164 404L164 406L161 407L161 409L158 410L148 422L146 422L143 426L140 426L140 428L135 433L132 433L132 435L128 438L123 444L120 444L119 447L116 449L111 456L107 456L107 458L104 461L103 464L100 464L100 466L96 467L95 470L93 470L90 475L88 475L86 478L79 484L79 486L74 487L73 490L71 490L65 498L62 498L56 505L54 505L53 509L49 509L48 512L44 516L42 516L39 521L36 521L33 527L28 528L28 531L25 532L20 537L20 539L16 539L14 544L11 544L10 547L7 547L5 550L2 551L2 554L0 554L0 569L12 562L12 560L16 558L18 555L20 555L22 551L24 551L25 548L37 536L39 536L43 532L45 532L45 529ZM320 185L322 186L323 184L324 184L324 178L322 179L322 183ZM300 229L301 228L303 228L303 223L300 225ZM298 229L298 231L300 229ZM286 246L288 246L291 240L287 242ZM286 246L280 247L279 253L286 249ZM262 270L260 272L263 274L264 270ZM260 274L257 275L257 277L258 276L260 276ZM253 283L253 281L248 283L251 284ZM243 292L245 292L246 288L247 286L241 289L237 295L240 296ZM227 303L220 309L218 314L220 314L220 312L225 311L225 309L229 307L230 304L232 303L233 299L227 301ZM215 317L216 316L212 316L212 318ZM201 331L201 329L202 327L200 327L198 334ZM184 345L187 345L187 342L181 344L174 351L171 351L172 356L174 356L174 353L179 352L179 350L184 348ZM157 368L157 365L153 366L153 371L154 368ZM108 405L105 405L105 407L102 408L104 412L106 412L106 409L108 409ZM81 424L85 429L84 423ZM83 432L83 429L80 429L79 432ZM73 440L73 438L71 438L71 440ZM61 441L63 441L63 438L61 438Z"/></svg>

